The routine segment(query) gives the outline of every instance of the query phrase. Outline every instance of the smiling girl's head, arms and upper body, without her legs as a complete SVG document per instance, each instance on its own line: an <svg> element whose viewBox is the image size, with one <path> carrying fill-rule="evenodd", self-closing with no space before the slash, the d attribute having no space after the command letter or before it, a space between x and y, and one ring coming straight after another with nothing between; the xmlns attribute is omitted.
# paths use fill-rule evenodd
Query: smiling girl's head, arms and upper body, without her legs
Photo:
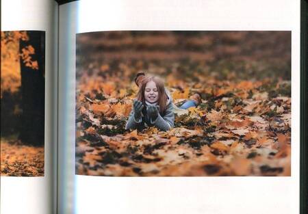
<svg viewBox="0 0 308 214"><path fill-rule="evenodd" d="M142 78L125 129L155 126L161 131L168 131L174 126L174 122L172 98L170 93L166 93L163 81L158 77Z"/></svg>

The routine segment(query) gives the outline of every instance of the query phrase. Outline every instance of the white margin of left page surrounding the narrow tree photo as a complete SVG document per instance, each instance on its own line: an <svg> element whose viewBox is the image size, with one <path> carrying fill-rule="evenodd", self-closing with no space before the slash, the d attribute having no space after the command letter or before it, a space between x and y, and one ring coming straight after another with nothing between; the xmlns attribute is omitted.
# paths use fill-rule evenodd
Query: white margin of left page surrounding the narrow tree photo
<svg viewBox="0 0 308 214"><path fill-rule="evenodd" d="M44 177L1 176L0 213L54 213L53 80L57 3L51 0L1 0L1 31L45 31Z"/></svg>

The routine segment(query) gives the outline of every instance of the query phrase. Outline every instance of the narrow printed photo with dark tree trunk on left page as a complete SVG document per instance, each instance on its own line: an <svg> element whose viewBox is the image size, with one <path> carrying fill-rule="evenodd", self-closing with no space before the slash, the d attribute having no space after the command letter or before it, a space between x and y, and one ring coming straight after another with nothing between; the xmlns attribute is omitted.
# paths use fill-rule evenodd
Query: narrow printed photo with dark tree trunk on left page
<svg viewBox="0 0 308 214"><path fill-rule="evenodd" d="M1 31L1 176L44 176L44 57L44 31Z"/></svg>

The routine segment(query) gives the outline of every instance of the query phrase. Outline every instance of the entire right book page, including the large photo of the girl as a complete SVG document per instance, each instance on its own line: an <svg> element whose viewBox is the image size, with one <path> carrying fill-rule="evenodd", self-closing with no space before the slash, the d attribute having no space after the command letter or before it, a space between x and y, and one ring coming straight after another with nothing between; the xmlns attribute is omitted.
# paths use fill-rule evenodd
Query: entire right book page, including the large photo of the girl
<svg viewBox="0 0 308 214"><path fill-rule="evenodd" d="M298 213L299 10L61 5L60 210Z"/></svg>

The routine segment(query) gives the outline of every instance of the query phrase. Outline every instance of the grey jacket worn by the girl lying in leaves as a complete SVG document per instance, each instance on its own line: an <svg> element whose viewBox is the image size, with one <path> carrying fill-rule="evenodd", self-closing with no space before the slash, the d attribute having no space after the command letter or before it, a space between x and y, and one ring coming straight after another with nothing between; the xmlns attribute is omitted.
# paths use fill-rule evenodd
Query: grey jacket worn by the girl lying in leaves
<svg viewBox="0 0 308 214"><path fill-rule="evenodd" d="M170 93L166 93L168 96L167 108L164 113L158 113L156 120L152 121L148 115L146 115L146 107L142 111L140 120L136 120L133 110L129 114L125 129L144 129L145 127L155 126L161 131L170 130L175 124L175 113L173 112L172 98Z"/></svg>

